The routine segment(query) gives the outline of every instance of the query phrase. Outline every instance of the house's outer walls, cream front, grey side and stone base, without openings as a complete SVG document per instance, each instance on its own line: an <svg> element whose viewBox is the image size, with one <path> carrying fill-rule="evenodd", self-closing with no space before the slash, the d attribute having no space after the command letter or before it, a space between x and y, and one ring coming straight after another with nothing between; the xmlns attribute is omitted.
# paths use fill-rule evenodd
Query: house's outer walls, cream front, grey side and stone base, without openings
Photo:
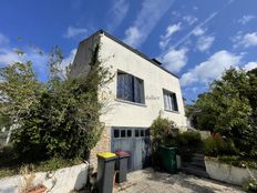
<svg viewBox="0 0 257 193"><path fill-rule="evenodd" d="M99 88L100 100L106 103L100 116L100 121L105 124L105 130L100 142L91 151L90 164L94 169L97 163L96 153L111 151L111 126L148 128L160 113L177 125L186 126L178 79L104 34L95 33L79 44L71 69L72 78L88 74L92 51L96 43L100 43L100 60L114 78L103 88ZM144 80L145 104L116 99L117 70ZM164 111L163 89L176 93L178 112Z"/></svg>

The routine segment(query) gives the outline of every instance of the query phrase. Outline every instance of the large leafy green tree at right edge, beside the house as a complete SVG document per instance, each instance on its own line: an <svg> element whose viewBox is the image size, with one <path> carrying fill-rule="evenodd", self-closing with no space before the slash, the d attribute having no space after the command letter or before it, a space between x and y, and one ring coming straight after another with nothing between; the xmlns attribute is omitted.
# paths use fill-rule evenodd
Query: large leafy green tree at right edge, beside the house
<svg viewBox="0 0 257 193"><path fill-rule="evenodd" d="M256 70L229 69L210 84L209 92L198 96L187 114L195 128L218 132L244 156L256 158Z"/></svg>

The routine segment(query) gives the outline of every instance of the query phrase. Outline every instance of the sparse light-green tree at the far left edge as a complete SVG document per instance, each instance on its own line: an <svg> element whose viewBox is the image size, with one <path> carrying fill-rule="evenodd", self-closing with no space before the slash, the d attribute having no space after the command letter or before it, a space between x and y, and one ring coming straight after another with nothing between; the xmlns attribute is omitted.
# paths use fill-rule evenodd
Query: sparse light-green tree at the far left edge
<svg viewBox="0 0 257 193"><path fill-rule="evenodd" d="M20 121L20 114L30 113L30 106L38 103L43 85L37 80L32 62L14 62L0 69L0 115L10 121L7 143L12 129Z"/></svg>

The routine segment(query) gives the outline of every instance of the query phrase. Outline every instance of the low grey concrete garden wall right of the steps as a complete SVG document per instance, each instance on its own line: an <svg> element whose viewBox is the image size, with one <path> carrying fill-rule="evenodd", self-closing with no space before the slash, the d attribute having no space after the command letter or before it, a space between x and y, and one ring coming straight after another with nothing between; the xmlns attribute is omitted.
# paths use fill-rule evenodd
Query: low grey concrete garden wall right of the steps
<svg viewBox="0 0 257 193"><path fill-rule="evenodd" d="M227 182L235 185L243 185L244 182L249 180L250 173L257 179L257 170L241 169L226 163L220 163L218 161L205 158L206 172L210 179Z"/></svg>

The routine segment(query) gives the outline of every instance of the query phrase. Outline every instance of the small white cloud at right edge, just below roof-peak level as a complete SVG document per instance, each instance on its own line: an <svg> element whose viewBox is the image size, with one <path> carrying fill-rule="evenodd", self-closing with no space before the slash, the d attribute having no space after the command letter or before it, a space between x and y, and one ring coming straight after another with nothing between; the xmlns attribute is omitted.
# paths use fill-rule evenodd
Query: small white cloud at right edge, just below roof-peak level
<svg viewBox="0 0 257 193"><path fill-rule="evenodd" d="M234 48L237 48L239 45L244 45L245 48L248 47L256 47L257 45L257 31L253 33L246 33L241 34L241 32L238 32L238 34L233 39L235 42Z"/></svg>

